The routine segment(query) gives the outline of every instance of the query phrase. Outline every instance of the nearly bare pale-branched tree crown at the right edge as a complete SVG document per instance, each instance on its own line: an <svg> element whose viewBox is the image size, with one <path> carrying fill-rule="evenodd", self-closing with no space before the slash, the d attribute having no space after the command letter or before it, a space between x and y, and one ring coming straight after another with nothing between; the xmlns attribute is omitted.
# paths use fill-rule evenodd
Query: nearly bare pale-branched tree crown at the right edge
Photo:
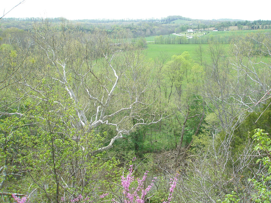
<svg viewBox="0 0 271 203"><path fill-rule="evenodd" d="M255 106L258 107L258 104L266 103L271 98L269 35L257 33L241 39L237 37L232 39L231 65L237 78L236 94L232 98L248 111L252 111Z"/></svg>

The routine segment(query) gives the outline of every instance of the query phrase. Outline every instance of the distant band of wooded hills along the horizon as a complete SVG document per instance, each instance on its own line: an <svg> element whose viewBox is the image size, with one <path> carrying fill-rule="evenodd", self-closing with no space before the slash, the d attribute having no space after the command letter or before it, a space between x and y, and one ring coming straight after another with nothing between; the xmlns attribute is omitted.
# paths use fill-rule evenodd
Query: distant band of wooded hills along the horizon
<svg viewBox="0 0 271 203"><path fill-rule="evenodd" d="M32 24L41 22L41 18L2 18L0 27L2 29L18 28L30 31ZM113 31L126 31L129 37L147 37L155 35L168 35L174 32L185 32L187 29L193 30L211 30L213 28L219 30L229 30L232 26L238 26L238 30L248 29L270 29L271 20L195 20L182 16L168 16L161 19L93 19L93 20L73 20L74 26L83 32L94 32L96 28ZM52 24L60 26L62 18L51 19Z"/></svg>

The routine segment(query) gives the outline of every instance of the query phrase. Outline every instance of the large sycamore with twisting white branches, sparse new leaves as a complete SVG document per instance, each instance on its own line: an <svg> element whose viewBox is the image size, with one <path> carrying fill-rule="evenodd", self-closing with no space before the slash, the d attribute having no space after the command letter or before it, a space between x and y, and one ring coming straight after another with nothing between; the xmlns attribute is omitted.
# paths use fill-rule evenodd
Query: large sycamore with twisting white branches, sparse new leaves
<svg viewBox="0 0 271 203"><path fill-rule="evenodd" d="M32 33L40 74L35 80L22 82L22 92L31 89L27 96L36 102L42 100L44 92L35 88L42 78L48 86L56 82L64 88L75 103L75 128L111 128L116 132L97 152L110 149L116 139L137 126L166 117L155 107L154 65L144 60L124 33L109 35L96 30L87 35L66 20L60 28L44 20ZM143 111L150 107L151 112Z"/></svg>

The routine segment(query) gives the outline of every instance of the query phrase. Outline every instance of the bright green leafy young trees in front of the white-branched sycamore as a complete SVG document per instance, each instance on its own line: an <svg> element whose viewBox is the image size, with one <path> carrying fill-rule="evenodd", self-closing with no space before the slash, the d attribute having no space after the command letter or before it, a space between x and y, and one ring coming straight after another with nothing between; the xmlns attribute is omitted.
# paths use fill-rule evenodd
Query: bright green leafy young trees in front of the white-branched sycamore
<svg viewBox="0 0 271 203"><path fill-rule="evenodd" d="M42 86L43 91L47 88L46 84ZM39 104L28 104L23 118L0 120L0 161L4 171L0 181L12 192L26 193L36 188L36 202L89 194L95 184L120 177L115 158L101 162L102 153L92 155L102 146L106 133L75 128L79 121L74 117L74 102L60 90L55 94L56 87L47 89ZM22 171L24 178L19 183L14 174Z"/></svg>

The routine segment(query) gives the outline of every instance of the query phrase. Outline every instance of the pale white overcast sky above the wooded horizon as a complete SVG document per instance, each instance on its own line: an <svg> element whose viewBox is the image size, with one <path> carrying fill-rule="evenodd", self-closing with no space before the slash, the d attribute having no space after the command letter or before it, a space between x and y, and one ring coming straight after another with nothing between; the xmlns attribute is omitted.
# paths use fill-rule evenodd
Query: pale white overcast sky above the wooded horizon
<svg viewBox="0 0 271 203"><path fill-rule="evenodd" d="M3 15L22 0L0 0ZM5 17L146 19L180 15L192 19L271 20L271 0L25 0Z"/></svg>

